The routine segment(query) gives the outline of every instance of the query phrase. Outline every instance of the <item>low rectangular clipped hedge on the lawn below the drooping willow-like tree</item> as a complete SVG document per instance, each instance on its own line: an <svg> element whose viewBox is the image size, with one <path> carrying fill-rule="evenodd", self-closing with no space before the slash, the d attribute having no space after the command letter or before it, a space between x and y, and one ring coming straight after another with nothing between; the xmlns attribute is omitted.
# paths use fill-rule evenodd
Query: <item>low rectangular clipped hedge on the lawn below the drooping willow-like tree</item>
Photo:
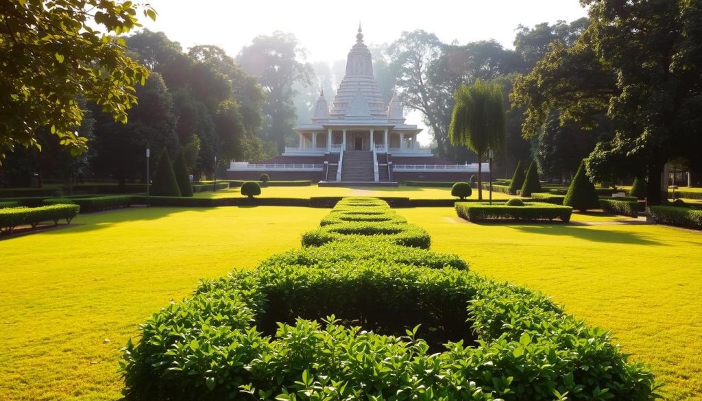
<svg viewBox="0 0 702 401"><path fill-rule="evenodd" d="M505 204L487 204L456 202L456 213L458 217L468 221L486 220L548 220L559 218L564 223L568 223L571 218L573 208L570 206L559 206L555 204L541 202L524 202L524 206L507 206Z"/></svg>

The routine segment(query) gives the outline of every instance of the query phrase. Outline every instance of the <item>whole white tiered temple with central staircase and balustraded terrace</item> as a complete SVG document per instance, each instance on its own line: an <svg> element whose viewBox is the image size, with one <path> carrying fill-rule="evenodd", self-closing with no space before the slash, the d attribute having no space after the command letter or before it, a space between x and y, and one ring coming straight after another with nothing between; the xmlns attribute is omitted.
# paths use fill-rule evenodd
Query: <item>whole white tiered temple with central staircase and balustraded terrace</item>
<svg viewBox="0 0 702 401"><path fill-rule="evenodd" d="M297 147L286 147L263 164L232 162L227 176L256 179L265 172L272 180L307 179L320 185L397 185L399 180L468 180L468 173L477 172L477 164L450 164L419 146L422 129L405 123L397 93L388 103L383 100L360 26L331 105L319 93L312 121L295 131Z"/></svg>

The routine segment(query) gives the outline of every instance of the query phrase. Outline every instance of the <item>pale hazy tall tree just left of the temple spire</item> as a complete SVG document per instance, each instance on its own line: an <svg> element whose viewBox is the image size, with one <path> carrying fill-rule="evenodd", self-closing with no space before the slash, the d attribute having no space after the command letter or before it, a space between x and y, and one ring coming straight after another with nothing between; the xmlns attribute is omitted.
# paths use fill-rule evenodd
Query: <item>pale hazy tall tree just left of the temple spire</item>
<svg viewBox="0 0 702 401"><path fill-rule="evenodd" d="M306 53L293 34L276 31L270 36L258 36L253 43L241 49L239 65L258 77L267 98L263 107L267 140L285 149L286 140L293 138L296 122L293 98L294 84L311 84L312 67L305 63Z"/></svg>

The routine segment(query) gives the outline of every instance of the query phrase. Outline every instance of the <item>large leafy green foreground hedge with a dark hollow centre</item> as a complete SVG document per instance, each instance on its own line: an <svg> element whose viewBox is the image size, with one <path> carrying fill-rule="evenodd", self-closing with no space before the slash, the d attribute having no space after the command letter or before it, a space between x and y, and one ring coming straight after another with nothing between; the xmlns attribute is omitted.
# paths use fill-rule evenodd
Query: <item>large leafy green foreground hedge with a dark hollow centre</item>
<svg viewBox="0 0 702 401"><path fill-rule="evenodd" d="M201 282L191 298L142 324L138 343L127 343L124 397L656 397L654 376L629 364L608 331L459 261L364 237L289 251L256 270Z"/></svg>

